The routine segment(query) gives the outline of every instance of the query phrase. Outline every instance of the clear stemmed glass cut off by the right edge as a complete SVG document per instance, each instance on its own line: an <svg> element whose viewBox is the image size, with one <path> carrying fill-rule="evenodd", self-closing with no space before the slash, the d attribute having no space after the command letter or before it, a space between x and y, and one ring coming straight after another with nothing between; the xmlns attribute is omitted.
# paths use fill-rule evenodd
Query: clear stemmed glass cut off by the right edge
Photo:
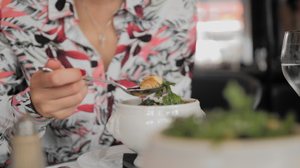
<svg viewBox="0 0 300 168"><path fill-rule="evenodd" d="M282 73L300 96L300 30L285 31L281 52Z"/></svg>

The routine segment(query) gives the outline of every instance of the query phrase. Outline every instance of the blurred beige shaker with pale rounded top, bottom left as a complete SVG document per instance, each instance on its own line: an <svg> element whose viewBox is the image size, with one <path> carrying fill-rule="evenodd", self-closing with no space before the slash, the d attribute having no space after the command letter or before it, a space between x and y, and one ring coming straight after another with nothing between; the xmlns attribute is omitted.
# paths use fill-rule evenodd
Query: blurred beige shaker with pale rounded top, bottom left
<svg viewBox="0 0 300 168"><path fill-rule="evenodd" d="M13 137L12 168L44 168L41 141L28 117L20 119Z"/></svg>

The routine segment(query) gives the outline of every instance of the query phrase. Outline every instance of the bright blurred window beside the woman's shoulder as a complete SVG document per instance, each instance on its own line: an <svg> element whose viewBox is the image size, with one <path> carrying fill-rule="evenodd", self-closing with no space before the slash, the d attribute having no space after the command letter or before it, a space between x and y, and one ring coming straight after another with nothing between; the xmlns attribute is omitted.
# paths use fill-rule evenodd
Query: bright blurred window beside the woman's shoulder
<svg viewBox="0 0 300 168"><path fill-rule="evenodd" d="M240 70L254 64L249 0L197 0L195 66Z"/></svg>

